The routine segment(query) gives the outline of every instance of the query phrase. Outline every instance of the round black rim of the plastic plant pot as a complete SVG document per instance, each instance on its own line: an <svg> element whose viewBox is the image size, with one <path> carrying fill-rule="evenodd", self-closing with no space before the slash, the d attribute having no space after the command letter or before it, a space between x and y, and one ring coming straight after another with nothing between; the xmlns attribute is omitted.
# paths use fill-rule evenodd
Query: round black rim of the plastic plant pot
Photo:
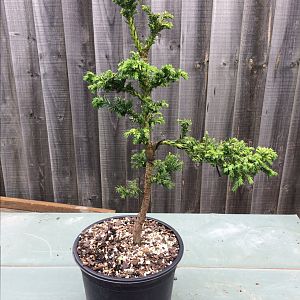
<svg viewBox="0 0 300 300"><path fill-rule="evenodd" d="M119 215L119 216L113 216L113 217L109 217L109 218L105 218L105 219L101 219L99 221L96 221L92 224L90 224L89 226L87 226L86 228L84 228L80 234L76 237L74 244L73 244L73 249L72 249L72 253L73 253L73 257L75 259L75 262L79 265L80 269L82 272L86 273L89 276L94 277L95 279L100 279L102 281L106 281L106 282L110 282L110 283L118 283L118 284L126 284L126 283L141 283L141 282L149 282L151 280L157 280L160 277L163 277L164 275L166 275L167 273L170 273L171 271L173 271L177 264L179 263L179 261L181 260L182 256L183 256L183 251L184 251L184 245L183 245L183 241L181 236L179 235L179 233L173 228L171 227L169 224L152 218L152 217L146 217L146 219L148 220L154 220L157 221L158 223L166 226L168 229L170 229L176 236L178 244L179 244L179 252L177 257L173 260L172 264L167 266L165 269L155 273L155 274L151 274L151 275L147 275L145 277L137 277L137 278L118 278L118 277L111 277L108 275L104 275L101 273L98 273L86 266L84 266L79 258L79 255L77 253L77 245L78 245L78 241L80 238L80 235L82 232L86 231L87 229L89 229L90 227L92 227L95 224L99 224L102 222L105 222L107 220L111 220L111 219L121 219L121 218L126 218L126 217L136 217L136 215Z"/></svg>

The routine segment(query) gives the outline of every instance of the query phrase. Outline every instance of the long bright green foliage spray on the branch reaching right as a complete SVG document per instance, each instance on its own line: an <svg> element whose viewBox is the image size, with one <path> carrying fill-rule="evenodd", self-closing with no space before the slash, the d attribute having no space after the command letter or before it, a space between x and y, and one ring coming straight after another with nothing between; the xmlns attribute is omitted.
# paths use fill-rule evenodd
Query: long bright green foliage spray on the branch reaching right
<svg viewBox="0 0 300 300"><path fill-rule="evenodd" d="M206 162L220 167L222 173L228 175L233 181L233 191L236 191L245 181L252 184L253 177L259 171L263 171L268 176L277 175L271 169L273 161L277 158L273 149L262 147L255 149L236 138L216 142L205 134L201 141L188 136L175 141L166 140L163 143L184 150L194 162Z"/></svg>

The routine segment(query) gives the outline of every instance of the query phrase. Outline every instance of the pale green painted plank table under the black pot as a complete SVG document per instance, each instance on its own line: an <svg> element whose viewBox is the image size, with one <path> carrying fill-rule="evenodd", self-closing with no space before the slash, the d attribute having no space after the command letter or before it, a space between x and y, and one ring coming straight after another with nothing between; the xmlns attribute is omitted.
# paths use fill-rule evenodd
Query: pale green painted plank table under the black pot
<svg viewBox="0 0 300 300"><path fill-rule="evenodd" d="M83 300L72 243L111 215L2 213L1 300ZM173 226L185 244L172 299L300 299L297 216L149 216Z"/></svg>

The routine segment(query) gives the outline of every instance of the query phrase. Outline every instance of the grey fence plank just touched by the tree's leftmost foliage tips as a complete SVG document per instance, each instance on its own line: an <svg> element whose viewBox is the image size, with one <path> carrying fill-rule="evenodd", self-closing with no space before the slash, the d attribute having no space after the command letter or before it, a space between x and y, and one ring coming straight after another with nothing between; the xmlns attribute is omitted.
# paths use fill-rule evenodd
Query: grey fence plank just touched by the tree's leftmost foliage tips
<svg viewBox="0 0 300 300"><path fill-rule="evenodd" d="M80 205L101 207L98 113L82 77L95 72L91 1L63 0L63 24Z"/></svg>

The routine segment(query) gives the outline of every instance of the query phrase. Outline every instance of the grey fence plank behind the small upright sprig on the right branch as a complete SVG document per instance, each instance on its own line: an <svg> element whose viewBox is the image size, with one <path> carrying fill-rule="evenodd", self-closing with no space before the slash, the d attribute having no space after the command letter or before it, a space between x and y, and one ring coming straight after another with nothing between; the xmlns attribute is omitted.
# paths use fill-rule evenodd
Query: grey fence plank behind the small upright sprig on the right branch
<svg viewBox="0 0 300 300"><path fill-rule="evenodd" d="M188 72L189 80L179 84L178 117L192 120L191 135L198 139L204 134L212 4L182 3L180 68ZM181 211L200 211L201 175L201 166L184 156Z"/></svg>

